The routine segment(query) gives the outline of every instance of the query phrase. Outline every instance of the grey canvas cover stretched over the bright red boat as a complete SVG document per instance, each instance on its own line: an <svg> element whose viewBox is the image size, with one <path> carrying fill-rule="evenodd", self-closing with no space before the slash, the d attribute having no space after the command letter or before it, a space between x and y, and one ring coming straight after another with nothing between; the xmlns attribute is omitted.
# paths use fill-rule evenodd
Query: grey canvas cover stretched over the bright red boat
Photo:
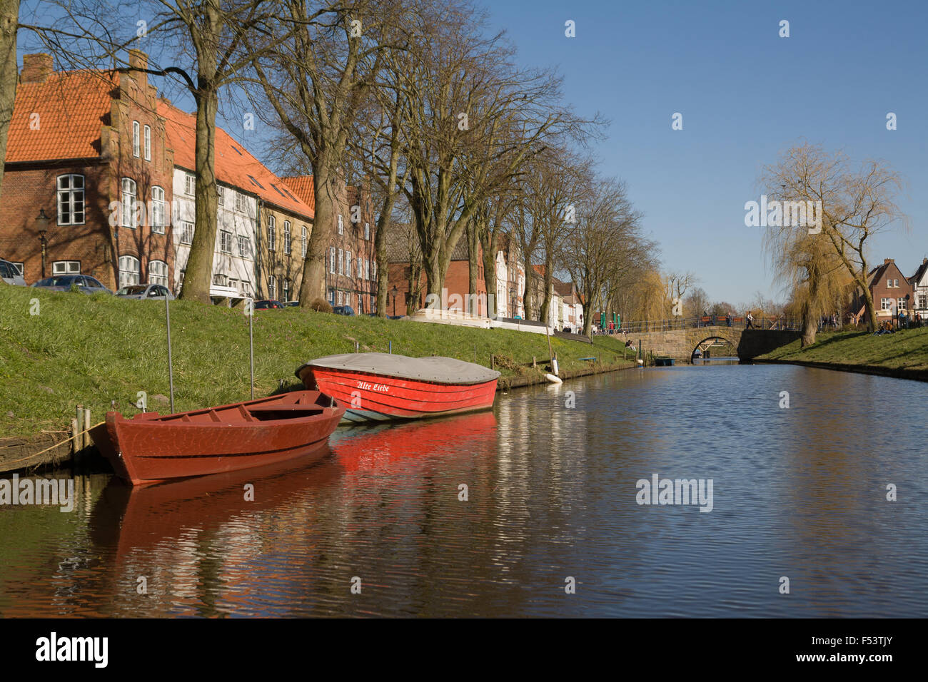
<svg viewBox="0 0 928 682"><path fill-rule="evenodd" d="M499 378L499 372L453 357L408 357L388 353L348 353L316 358L303 367L327 367L370 372L383 377L432 381L433 383L475 384ZM296 370L300 376L300 367Z"/></svg>

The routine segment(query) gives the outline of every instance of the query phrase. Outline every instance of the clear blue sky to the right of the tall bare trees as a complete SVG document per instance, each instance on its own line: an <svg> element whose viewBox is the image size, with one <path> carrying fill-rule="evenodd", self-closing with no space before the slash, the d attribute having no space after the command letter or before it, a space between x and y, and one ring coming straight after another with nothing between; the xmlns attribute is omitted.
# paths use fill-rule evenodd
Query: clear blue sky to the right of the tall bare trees
<svg viewBox="0 0 928 682"><path fill-rule="evenodd" d="M664 267L694 272L711 299L783 298L744 202L801 138L884 159L908 181L910 230L877 238L871 261L895 258L909 275L928 256L928 2L494 0L489 11L523 64L557 67L578 112L611 119L601 172L627 183Z"/></svg>

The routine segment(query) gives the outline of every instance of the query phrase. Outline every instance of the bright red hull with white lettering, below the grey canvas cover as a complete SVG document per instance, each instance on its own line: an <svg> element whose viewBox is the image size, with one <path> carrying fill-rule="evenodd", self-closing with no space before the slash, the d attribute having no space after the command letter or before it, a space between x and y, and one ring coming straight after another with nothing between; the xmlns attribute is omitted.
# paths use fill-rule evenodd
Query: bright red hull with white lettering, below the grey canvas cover
<svg viewBox="0 0 928 682"><path fill-rule="evenodd" d="M345 405L342 423L410 420L477 412L493 407L496 379L449 384L389 377L331 367L304 366L308 389L334 396Z"/></svg>

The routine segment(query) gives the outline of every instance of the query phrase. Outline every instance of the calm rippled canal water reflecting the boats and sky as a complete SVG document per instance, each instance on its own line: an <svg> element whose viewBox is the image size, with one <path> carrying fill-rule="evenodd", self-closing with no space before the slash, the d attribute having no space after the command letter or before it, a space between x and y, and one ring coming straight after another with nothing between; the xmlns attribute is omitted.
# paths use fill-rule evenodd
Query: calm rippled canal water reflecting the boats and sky
<svg viewBox="0 0 928 682"><path fill-rule="evenodd" d="M0 613L924 617L926 398L802 367L630 370L340 430L313 466L78 477L72 513L0 507ZM638 505L655 473L712 479L712 511Z"/></svg>

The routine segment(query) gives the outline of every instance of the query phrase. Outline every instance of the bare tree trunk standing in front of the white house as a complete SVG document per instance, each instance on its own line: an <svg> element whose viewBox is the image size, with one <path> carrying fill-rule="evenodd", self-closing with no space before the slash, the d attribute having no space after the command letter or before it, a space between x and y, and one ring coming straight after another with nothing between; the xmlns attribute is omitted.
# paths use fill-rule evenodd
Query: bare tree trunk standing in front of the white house
<svg viewBox="0 0 928 682"><path fill-rule="evenodd" d="M205 72L204 72L205 71ZM219 97L214 87L214 70L200 71L197 93L196 210L193 243L178 298L210 302L213 282L213 256L216 246L216 109ZM260 227L259 227L260 229ZM119 254L116 254L119 258ZM115 260L115 259L114 259ZM256 283L257 284L257 283ZM255 287L257 290L257 287Z"/></svg>

